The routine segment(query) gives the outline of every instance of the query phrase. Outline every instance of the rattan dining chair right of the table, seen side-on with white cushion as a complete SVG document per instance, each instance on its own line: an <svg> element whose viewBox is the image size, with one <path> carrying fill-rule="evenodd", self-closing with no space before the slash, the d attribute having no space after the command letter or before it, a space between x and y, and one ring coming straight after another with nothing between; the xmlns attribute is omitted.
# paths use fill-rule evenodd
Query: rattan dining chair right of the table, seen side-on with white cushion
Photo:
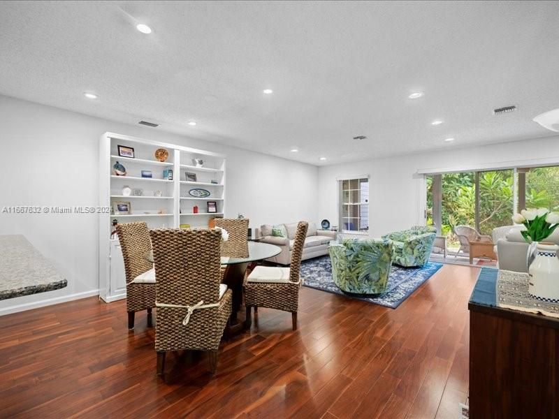
<svg viewBox="0 0 559 419"><path fill-rule="evenodd" d="M251 307L268 307L291 312L293 330L297 330L297 311L301 256L309 223L300 221L297 225L291 264L289 267L257 266L245 279L245 306L247 307L247 328L252 323Z"/></svg>

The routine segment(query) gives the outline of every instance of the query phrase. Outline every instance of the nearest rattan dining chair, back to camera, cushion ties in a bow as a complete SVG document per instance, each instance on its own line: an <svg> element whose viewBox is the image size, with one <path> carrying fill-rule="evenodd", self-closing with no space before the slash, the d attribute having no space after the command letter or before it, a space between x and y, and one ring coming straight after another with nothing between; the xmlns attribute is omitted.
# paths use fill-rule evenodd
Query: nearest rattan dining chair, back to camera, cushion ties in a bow
<svg viewBox="0 0 559 419"><path fill-rule="evenodd" d="M157 374L167 351L208 351L215 372L219 341L231 316L231 291L219 284L222 233L151 230L157 274Z"/></svg>

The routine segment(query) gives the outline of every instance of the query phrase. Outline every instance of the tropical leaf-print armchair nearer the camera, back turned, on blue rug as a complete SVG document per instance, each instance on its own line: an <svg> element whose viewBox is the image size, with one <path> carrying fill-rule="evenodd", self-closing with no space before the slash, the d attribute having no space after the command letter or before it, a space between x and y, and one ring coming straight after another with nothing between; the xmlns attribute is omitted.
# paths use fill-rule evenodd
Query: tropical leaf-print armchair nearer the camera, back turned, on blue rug
<svg viewBox="0 0 559 419"><path fill-rule="evenodd" d="M386 291L393 247L388 239L342 240L328 247L334 283L346 293L379 294Z"/></svg>

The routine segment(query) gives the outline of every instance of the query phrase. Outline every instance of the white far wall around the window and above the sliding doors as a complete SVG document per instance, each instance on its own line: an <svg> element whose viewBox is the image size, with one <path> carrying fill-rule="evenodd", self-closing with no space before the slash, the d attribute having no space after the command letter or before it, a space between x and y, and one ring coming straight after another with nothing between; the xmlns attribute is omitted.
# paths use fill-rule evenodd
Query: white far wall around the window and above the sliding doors
<svg viewBox="0 0 559 419"><path fill-rule="evenodd" d="M545 161L559 164L559 136L479 147L442 147L438 152L373 159L319 168L320 219L338 223L337 177L370 175L370 231L379 237L393 230L423 223L423 169L467 170Z"/></svg>

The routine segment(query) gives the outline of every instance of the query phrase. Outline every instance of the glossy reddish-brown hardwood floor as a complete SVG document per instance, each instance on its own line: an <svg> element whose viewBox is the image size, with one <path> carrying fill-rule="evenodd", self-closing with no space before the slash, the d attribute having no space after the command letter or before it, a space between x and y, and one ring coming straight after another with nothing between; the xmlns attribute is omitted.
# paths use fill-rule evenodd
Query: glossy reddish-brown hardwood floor
<svg viewBox="0 0 559 419"><path fill-rule="evenodd" d="M156 376L145 314L97 298L0 317L0 418L456 418L467 398L467 300L479 269L445 265L398 309L303 288Z"/></svg>

